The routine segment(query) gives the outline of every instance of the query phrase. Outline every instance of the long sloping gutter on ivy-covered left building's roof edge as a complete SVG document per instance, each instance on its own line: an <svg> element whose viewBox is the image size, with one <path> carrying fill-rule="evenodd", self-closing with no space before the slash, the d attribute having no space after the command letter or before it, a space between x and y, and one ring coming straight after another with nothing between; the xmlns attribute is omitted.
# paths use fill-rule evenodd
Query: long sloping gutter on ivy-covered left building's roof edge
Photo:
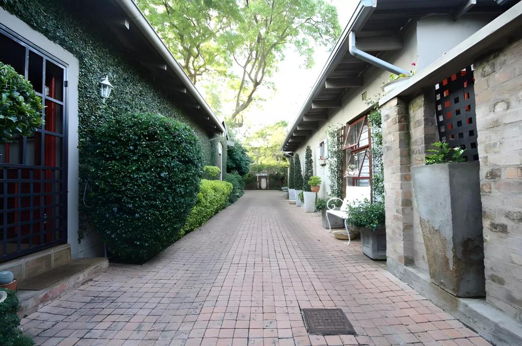
<svg viewBox="0 0 522 346"><path fill-rule="evenodd" d="M226 133L226 129L223 127L221 122L219 121L218 117L214 112L212 112L212 109L207 104L205 99L201 96L199 91L196 89L192 81L188 78L188 76L185 74L185 71L183 71L183 68L180 66L179 63L177 63L174 56L172 56L172 53L169 51L167 46L161 41L161 39L158 36L158 33L152 28L149 21L141 12L141 10L138 8L138 5L133 0L114 0L120 7L125 11L127 16L134 22L134 24L138 27L138 29L145 35L147 40L152 44L153 47L157 50L157 52L161 55L161 57L165 60L165 63L167 63L176 76L180 78L180 80L183 82L183 85L188 89L188 91L192 94L192 96L196 99L196 102L199 103L201 107L205 110L205 112L209 115L209 117L212 119L213 123L216 124L216 127L221 130L222 133Z"/></svg>

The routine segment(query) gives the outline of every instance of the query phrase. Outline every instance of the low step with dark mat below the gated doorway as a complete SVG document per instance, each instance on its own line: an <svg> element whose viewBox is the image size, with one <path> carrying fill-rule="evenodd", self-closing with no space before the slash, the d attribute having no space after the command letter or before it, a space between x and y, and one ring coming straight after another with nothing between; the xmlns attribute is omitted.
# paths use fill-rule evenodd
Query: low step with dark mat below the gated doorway
<svg viewBox="0 0 522 346"><path fill-rule="evenodd" d="M62 294L92 280L108 266L109 261L104 257L78 258L21 281L17 291L21 305L19 315L32 314Z"/></svg>

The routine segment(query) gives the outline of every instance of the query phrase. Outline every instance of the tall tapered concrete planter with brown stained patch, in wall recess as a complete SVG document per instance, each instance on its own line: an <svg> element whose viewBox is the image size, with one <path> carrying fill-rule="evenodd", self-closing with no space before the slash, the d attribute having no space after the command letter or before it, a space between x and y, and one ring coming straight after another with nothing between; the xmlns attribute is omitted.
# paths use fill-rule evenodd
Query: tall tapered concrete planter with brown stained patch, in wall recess
<svg viewBox="0 0 522 346"><path fill-rule="evenodd" d="M485 295L479 163L411 168L434 284L458 297Z"/></svg>

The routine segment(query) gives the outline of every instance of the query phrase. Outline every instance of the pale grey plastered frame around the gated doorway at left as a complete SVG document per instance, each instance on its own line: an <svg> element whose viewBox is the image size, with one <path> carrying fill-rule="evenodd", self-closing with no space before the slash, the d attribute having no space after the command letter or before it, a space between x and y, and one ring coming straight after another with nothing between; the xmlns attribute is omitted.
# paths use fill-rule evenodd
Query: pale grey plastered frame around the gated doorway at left
<svg viewBox="0 0 522 346"><path fill-rule="evenodd" d="M87 239L78 243L78 59L1 7L0 22L67 66L67 242L72 258L100 255L99 241Z"/></svg>

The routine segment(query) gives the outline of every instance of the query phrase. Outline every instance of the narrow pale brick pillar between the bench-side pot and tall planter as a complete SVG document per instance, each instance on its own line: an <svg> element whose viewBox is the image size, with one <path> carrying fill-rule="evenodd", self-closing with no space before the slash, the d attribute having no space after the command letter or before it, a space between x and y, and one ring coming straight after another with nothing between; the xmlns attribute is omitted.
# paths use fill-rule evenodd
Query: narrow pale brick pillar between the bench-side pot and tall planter
<svg viewBox="0 0 522 346"><path fill-rule="evenodd" d="M413 263L413 211L408 104L394 98L381 107L388 270Z"/></svg>

